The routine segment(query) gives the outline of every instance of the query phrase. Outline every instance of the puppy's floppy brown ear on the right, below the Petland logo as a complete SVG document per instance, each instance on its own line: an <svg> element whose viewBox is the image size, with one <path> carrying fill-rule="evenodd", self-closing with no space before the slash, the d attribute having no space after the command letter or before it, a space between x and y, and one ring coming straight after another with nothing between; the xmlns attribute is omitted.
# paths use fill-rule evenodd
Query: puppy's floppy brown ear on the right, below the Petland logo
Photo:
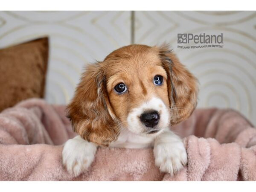
<svg viewBox="0 0 256 192"><path fill-rule="evenodd" d="M197 105L198 80L180 63L169 46L160 47L159 55L167 73L171 124L188 118Z"/></svg>

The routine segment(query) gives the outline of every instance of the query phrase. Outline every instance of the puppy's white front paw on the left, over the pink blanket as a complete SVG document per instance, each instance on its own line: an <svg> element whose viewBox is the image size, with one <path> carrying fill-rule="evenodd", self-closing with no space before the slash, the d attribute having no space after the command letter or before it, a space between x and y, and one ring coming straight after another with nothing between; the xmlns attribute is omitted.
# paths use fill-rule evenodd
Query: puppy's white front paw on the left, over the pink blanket
<svg viewBox="0 0 256 192"><path fill-rule="evenodd" d="M83 140L80 136L68 140L62 151L62 163L67 172L80 175L93 163L96 145Z"/></svg>

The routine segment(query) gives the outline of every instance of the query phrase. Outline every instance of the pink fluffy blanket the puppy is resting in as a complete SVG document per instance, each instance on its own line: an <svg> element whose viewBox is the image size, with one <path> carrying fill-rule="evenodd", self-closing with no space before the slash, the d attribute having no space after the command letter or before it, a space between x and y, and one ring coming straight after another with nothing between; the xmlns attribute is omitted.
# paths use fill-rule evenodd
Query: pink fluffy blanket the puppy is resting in
<svg viewBox="0 0 256 192"><path fill-rule="evenodd" d="M0 113L0 180L256 180L256 129L236 111L197 109L172 128L188 164L161 173L153 150L99 148L82 175L61 163L63 143L74 137L63 105L29 99Z"/></svg>

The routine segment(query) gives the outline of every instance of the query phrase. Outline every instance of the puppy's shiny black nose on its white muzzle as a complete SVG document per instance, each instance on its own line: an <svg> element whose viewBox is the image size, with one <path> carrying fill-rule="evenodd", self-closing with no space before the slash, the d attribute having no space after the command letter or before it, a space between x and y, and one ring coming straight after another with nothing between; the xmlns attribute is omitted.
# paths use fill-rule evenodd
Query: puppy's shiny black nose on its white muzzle
<svg viewBox="0 0 256 192"><path fill-rule="evenodd" d="M145 112L140 116L140 121L144 123L146 127L154 127L159 122L160 115L157 111Z"/></svg>

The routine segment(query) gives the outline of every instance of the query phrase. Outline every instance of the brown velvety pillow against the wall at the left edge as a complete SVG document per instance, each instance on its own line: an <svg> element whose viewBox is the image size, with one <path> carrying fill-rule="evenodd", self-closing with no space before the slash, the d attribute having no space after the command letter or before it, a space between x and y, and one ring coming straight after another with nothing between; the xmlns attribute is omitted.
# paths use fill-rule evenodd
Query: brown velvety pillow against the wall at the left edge
<svg viewBox="0 0 256 192"><path fill-rule="evenodd" d="M48 38L0 49L0 111L44 97L48 49Z"/></svg>

